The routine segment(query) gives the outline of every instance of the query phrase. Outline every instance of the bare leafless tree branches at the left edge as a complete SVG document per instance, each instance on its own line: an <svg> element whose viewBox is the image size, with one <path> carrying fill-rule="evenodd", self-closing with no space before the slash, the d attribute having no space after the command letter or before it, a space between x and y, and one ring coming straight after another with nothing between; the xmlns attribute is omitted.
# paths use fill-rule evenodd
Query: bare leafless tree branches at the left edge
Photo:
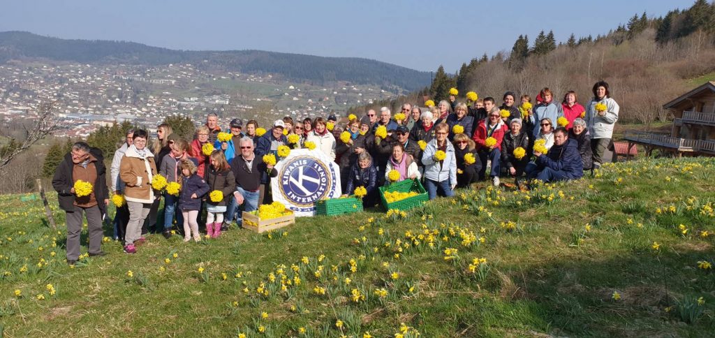
<svg viewBox="0 0 715 338"><path fill-rule="evenodd" d="M28 129L24 127L26 137L22 142L17 142L11 139L11 142L2 151L0 151L0 172L3 171L10 161L23 151L29 149L37 141L44 139L46 136L57 129L57 121L54 116L54 103L51 101L42 101L37 107L37 119L32 127Z"/></svg>

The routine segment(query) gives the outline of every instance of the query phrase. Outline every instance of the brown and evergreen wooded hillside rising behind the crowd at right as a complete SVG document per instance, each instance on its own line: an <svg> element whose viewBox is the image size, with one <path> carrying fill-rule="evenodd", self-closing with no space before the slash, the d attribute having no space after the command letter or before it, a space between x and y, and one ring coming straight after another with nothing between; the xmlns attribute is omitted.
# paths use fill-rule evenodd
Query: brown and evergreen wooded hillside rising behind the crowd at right
<svg viewBox="0 0 715 338"><path fill-rule="evenodd" d="M595 38L571 34L568 41L557 43L553 32L541 31L531 44L528 35L521 35L509 53L472 59L457 74L446 74L440 66L428 88L350 112L438 101L451 87L462 96L476 91L497 101L506 91L535 97L548 87L561 100L566 91L574 90L585 104L593 83L603 79L621 106L621 119L648 124L668 119L663 104L715 78L714 71L715 4L698 0L689 9L674 9L658 18L633 15L627 24Z"/></svg>

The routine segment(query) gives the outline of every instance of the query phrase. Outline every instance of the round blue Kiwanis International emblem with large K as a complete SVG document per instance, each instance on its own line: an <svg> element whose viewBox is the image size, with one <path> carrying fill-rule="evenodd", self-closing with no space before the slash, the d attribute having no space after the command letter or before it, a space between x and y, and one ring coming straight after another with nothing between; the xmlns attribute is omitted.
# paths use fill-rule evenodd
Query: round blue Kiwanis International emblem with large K
<svg viewBox="0 0 715 338"><path fill-rule="evenodd" d="M335 189L330 169L312 156L297 156L278 173L283 198L300 207L312 207Z"/></svg>

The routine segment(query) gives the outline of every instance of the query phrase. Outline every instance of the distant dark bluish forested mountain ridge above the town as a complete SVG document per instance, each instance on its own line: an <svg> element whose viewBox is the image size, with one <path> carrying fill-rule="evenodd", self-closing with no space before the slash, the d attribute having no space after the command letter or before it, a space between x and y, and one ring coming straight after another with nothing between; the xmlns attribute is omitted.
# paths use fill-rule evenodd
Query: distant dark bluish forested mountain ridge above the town
<svg viewBox="0 0 715 338"><path fill-rule="evenodd" d="M192 63L245 73L281 74L287 79L325 83L350 81L356 84L398 86L411 91L430 83L427 71L358 57L314 56L260 51L191 51L149 46L132 41L60 39L27 31L0 32L0 62L39 58L89 64ZM204 62L208 61L208 62Z"/></svg>

